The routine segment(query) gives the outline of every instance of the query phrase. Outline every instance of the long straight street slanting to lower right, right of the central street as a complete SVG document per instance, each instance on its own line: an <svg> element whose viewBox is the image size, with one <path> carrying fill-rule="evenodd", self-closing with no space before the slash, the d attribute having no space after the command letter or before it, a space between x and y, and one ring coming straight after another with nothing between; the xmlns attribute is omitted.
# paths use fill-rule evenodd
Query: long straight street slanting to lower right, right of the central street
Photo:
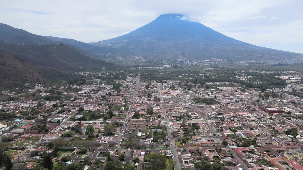
<svg viewBox="0 0 303 170"><path fill-rule="evenodd" d="M211 124L206 120L206 118L200 113L199 109L196 106L196 103L192 102L191 100L186 99L185 94L182 92L182 90L174 83L175 87L177 87L177 89L181 92L182 96L185 98L185 100L189 103L192 104L192 106L194 107L195 111L201 115L201 117L203 118L203 120L207 123L207 126L211 128L213 134L215 134L215 136L219 136L217 130L211 126ZM223 142L223 139L221 138L221 136L219 136L220 140ZM240 162L240 164L243 166L243 168L245 168L246 170L248 170L247 166L244 164L244 162L238 157L238 155L232 150L232 148L227 145L228 150L232 153L232 155L234 155L234 157Z"/></svg>

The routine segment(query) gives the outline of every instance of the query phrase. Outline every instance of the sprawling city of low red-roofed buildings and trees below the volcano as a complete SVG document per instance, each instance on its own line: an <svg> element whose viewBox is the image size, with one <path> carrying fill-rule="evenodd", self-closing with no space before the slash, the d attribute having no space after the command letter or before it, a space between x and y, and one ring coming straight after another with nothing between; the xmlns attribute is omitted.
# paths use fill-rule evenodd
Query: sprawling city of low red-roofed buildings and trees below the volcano
<svg viewBox="0 0 303 170"><path fill-rule="evenodd" d="M301 76L280 76L284 89L262 90L140 76L113 84L25 84L21 94L2 91L13 101L0 103L1 145L12 162L31 169L42 166L46 153L54 169L79 163L94 169L300 169Z"/></svg>

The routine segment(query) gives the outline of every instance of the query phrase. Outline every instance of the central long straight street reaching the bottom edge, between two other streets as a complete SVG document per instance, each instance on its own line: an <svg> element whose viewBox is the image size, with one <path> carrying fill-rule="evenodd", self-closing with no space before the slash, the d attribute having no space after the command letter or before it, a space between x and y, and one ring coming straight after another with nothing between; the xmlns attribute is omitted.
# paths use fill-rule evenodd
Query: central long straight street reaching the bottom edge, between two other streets
<svg viewBox="0 0 303 170"><path fill-rule="evenodd" d="M158 93L159 93L159 97L160 97L160 101L161 101L161 106L162 106L162 109L163 109L164 119L165 119L165 122L166 122L166 129L167 129L167 133L168 133L168 138L169 138L169 141L171 143L171 152L172 152L172 155L173 155L172 159L173 159L174 162L176 162L175 170L181 170L177 150L175 148L175 141L174 141L173 137L171 136L171 130L169 128L169 122L170 121L168 119L168 114L166 113L164 105L163 105L163 98L162 98L162 95L160 94L160 89L159 89L158 83L156 83L156 84L157 84L157 89L158 89Z"/></svg>

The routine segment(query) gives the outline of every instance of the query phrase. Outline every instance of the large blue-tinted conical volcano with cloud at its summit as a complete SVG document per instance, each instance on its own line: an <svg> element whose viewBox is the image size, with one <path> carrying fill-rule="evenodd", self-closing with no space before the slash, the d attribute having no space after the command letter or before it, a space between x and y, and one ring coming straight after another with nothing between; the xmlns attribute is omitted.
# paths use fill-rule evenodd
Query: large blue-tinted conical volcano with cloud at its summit
<svg viewBox="0 0 303 170"><path fill-rule="evenodd" d="M188 21L181 14L160 15L135 31L96 46L114 47L116 56L226 60L275 60L302 58L303 54L260 47L225 36L207 26Z"/></svg>

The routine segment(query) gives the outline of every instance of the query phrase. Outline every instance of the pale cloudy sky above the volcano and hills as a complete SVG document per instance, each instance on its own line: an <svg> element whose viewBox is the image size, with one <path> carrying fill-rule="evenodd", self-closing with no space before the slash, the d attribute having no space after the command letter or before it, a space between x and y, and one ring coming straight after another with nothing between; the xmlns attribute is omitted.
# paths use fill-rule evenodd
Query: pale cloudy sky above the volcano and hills
<svg viewBox="0 0 303 170"><path fill-rule="evenodd" d="M250 44L303 53L302 0L1 0L0 22L33 34L96 42L178 13Z"/></svg>

